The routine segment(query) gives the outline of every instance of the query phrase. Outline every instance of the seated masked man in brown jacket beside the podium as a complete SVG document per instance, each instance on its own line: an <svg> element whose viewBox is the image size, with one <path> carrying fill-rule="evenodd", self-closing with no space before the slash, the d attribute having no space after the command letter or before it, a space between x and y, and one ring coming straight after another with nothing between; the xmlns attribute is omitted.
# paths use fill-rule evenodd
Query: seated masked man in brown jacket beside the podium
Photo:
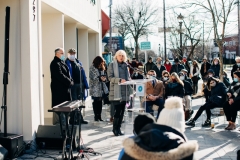
<svg viewBox="0 0 240 160"><path fill-rule="evenodd" d="M152 106L155 104L158 106L158 115L163 109L163 94L164 85L162 81L156 79L156 73L154 70L150 70L147 73L147 78L152 79L152 81L146 84L146 97L144 98L144 104L146 105L146 112L153 115ZM143 106L145 106L143 104ZM158 117L157 117L158 118Z"/></svg>

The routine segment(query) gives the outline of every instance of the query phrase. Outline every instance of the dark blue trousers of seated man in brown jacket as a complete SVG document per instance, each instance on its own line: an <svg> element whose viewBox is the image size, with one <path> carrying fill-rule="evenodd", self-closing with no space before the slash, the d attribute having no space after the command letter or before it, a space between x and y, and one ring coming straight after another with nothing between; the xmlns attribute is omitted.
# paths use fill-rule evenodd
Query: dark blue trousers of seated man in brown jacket
<svg viewBox="0 0 240 160"><path fill-rule="evenodd" d="M143 106L146 105L146 112L147 112L147 113L150 113L150 114L153 115L152 106L153 106L154 104L157 105L157 106L159 106L159 107L158 107L158 115L157 115L157 118L158 118L160 112L161 112L162 109L163 109L164 99L159 98L159 99L156 99L156 101L145 101L145 102L143 102Z"/></svg>

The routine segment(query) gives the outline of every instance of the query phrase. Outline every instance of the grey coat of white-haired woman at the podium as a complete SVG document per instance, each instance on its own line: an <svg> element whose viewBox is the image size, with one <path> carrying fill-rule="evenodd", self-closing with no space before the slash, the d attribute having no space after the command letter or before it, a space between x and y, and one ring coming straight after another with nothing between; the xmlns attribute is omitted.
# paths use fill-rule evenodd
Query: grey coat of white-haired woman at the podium
<svg viewBox="0 0 240 160"><path fill-rule="evenodd" d="M110 91L109 91L109 100L110 101L129 101L129 96L131 93L130 86L119 86L120 80L125 79L126 81L130 80L128 68L126 63L118 64L117 75L114 74L114 63L116 61L109 64L108 67L108 79L110 81ZM116 69L115 69L116 70ZM119 87L119 90L116 89ZM114 89L115 88L115 89ZM120 97L116 97L120 91Z"/></svg>

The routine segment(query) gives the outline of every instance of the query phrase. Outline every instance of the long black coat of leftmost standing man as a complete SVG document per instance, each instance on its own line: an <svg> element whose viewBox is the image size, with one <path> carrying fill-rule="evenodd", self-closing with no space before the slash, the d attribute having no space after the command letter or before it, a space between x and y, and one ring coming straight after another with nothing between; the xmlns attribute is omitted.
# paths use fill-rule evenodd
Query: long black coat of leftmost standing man
<svg viewBox="0 0 240 160"><path fill-rule="evenodd" d="M54 57L50 64L52 107L65 101L71 101L71 76L68 66L58 57Z"/></svg>

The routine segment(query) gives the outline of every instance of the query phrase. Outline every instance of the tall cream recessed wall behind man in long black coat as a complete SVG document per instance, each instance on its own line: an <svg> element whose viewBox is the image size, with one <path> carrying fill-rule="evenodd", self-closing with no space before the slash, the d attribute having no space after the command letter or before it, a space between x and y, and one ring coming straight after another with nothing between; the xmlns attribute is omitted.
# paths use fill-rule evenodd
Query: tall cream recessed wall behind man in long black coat
<svg viewBox="0 0 240 160"><path fill-rule="evenodd" d="M42 14L42 70L44 75L43 92L45 120L46 118L48 120L52 118L52 113L48 112L48 109L52 106L50 63L55 56L54 50L57 47L64 48L64 15L62 13L44 13Z"/></svg>

